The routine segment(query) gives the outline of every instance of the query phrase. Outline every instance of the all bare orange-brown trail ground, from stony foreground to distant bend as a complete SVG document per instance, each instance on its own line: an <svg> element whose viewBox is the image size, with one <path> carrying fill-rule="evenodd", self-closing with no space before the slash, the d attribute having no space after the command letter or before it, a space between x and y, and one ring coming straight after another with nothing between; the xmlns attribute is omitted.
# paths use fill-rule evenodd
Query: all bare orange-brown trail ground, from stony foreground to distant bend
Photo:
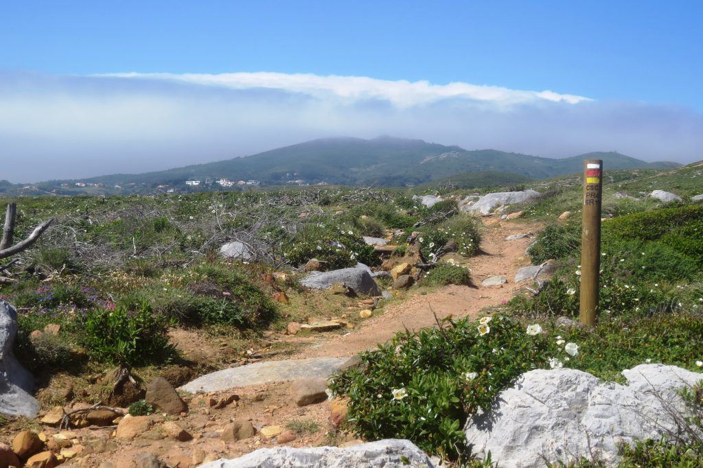
<svg viewBox="0 0 703 468"><path fill-rule="evenodd" d="M529 264L524 252L533 239L531 236L505 239L510 235L536 233L540 226L493 218L486 218L484 222L486 232L481 254L468 260L460 256L446 257L470 268L474 285L441 287L420 293L410 290L399 298L390 299L382 312L376 309L363 320L358 320L359 314L373 308L369 307L373 304L359 301L348 306L345 317L316 311L311 315L337 320L344 325L342 330L267 334L269 349L295 350L280 363L281 368L290 376L295 375L295 365L300 359L352 358L360 351L385 342L399 330L434 325L435 315L437 318L479 316L485 306L499 306L517 294L522 285L529 285L529 282L516 285L513 279L520 267ZM503 276L507 282L501 280L495 286L482 284L486 278L496 275ZM285 306L282 311L285 313ZM350 316L356 320L345 322ZM347 322L351 325L346 325ZM297 332L297 326L293 325L292 329ZM211 360L223 368L239 363L236 356L229 359L232 356L224 356L221 349L202 346L197 335L185 330L174 332L172 342L196 362ZM259 354L258 360L277 358L280 360L280 354L269 352ZM0 447L0 468L17 466L10 448L22 455L22 461L44 450L30 458L34 467L51 468L63 460L65 467L184 468L281 444L301 447L359 443L354 435L337 429L344 417L344 404L326 398L324 381L311 377L305 369L300 370L297 377L304 380L283 382L276 378L274 370L267 378L269 382L198 395L181 391L180 397L165 380L157 389L151 382L147 400L158 403L161 410L143 417L122 416L127 413L126 408L90 410L90 405L80 401L80 395L72 396L65 407L56 408L49 415L42 413L36 421L30 422L30 432L2 434L0 440L6 446ZM75 413L70 415L71 412ZM59 428L66 413L73 423L70 430ZM75 425L85 427L75 428Z"/></svg>

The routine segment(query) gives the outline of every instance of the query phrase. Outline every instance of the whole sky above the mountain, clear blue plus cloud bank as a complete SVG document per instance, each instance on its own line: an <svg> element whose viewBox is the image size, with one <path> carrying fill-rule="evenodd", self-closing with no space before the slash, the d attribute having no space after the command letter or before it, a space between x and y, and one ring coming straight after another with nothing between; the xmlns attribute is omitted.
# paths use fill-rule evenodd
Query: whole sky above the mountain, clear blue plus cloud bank
<svg viewBox="0 0 703 468"><path fill-rule="evenodd" d="M701 18L699 1L5 2L0 157L73 155L51 174L79 177L391 133L690 162L703 157ZM452 83L505 91L441 87ZM438 116L465 126L423 133ZM246 131L228 137L231 122ZM11 180L51 175L16 164Z"/></svg>

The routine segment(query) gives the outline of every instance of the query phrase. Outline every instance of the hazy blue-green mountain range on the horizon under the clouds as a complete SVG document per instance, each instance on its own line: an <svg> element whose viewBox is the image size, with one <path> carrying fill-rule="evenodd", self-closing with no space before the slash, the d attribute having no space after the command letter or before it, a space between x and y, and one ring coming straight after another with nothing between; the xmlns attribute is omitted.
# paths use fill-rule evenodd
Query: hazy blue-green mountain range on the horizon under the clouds
<svg viewBox="0 0 703 468"><path fill-rule="evenodd" d="M381 136L362 138L323 138L285 146L248 157L196 164L143 174L112 174L75 181L51 181L35 186L54 193L75 193L80 183L153 188L185 187L185 181L227 178L230 181L260 181L262 185L320 183L350 186L417 186L461 173L486 172L492 178L503 173L506 180L548 178L578 173L583 159L602 159L605 170L633 168L673 168L673 162L636 160L617 152L592 152L586 155L552 159L499 150L465 150L458 146L427 143L422 140ZM510 174L510 175L505 175ZM63 187L63 189L61 188ZM66 189L68 187L69 189ZM202 186L201 186L202 187ZM90 190L82 190L92 193Z"/></svg>

